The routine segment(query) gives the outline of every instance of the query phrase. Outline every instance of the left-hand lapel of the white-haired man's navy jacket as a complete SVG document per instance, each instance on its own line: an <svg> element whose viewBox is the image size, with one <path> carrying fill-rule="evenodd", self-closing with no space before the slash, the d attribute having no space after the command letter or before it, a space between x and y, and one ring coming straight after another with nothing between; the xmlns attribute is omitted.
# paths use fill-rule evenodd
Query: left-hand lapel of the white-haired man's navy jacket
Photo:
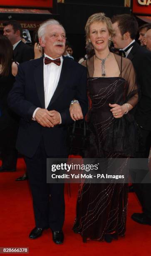
<svg viewBox="0 0 151 256"><path fill-rule="evenodd" d="M35 68L34 79L37 88L37 94L40 99L42 108L45 108L45 94L44 94L44 74L43 74L43 57L40 58L40 64Z"/></svg>

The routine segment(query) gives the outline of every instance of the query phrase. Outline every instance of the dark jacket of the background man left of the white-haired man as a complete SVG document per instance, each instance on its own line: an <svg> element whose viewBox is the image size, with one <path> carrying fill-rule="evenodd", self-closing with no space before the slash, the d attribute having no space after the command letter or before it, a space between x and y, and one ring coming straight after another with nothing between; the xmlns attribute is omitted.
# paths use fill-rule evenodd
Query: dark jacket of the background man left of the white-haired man
<svg viewBox="0 0 151 256"><path fill-rule="evenodd" d="M24 44L22 41L20 41L20 43L17 44L17 46L15 47L13 55L13 60L17 61L20 64L24 61L34 59L34 49L31 46Z"/></svg>

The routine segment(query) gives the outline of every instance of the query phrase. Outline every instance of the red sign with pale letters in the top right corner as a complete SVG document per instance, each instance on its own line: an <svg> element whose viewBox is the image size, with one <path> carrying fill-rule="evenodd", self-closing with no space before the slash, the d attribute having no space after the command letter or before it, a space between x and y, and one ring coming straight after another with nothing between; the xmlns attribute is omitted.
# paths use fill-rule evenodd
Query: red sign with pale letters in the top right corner
<svg viewBox="0 0 151 256"><path fill-rule="evenodd" d="M141 1L143 2L143 1ZM148 0L144 1L145 3ZM143 14L151 14L151 4L150 5L140 5L138 0L133 0L133 13L143 13Z"/></svg>

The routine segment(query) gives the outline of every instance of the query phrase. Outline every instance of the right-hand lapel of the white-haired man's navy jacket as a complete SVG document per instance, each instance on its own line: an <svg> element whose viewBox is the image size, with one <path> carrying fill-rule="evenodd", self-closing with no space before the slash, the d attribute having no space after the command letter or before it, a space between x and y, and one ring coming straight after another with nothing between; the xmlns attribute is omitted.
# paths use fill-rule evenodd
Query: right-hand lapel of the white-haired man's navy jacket
<svg viewBox="0 0 151 256"><path fill-rule="evenodd" d="M68 61L67 58L65 58L63 56L63 64L62 64L62 70L60 73L60 78L59 78L59 82L57 84L57 88L54 92L54 95L52 96L52 99L50 100L50 103L48 105L48 108L50 107L50 105L52 105L52 103L57 99L57 97L59 96L59 94L64 90L65 86L66 86L66 81L67 81L67 76L69 74L69 65L68 65Z"/></svg>

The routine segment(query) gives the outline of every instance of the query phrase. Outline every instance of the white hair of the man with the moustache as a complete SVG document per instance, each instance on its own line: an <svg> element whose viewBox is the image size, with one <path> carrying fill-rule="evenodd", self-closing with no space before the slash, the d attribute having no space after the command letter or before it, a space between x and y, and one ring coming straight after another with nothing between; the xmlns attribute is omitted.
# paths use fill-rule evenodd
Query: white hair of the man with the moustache
<svg viewBox="0 0 151 256"><path fill-rule="evenodd" d="M46 20L45 22L40 24L40 27L38 29L38 38L42 38L43 42L45 41L46 27L49 25L59 25L64 30L64 33L66 33L64 27L59 23L59 21L54 19Z"/></svg>

